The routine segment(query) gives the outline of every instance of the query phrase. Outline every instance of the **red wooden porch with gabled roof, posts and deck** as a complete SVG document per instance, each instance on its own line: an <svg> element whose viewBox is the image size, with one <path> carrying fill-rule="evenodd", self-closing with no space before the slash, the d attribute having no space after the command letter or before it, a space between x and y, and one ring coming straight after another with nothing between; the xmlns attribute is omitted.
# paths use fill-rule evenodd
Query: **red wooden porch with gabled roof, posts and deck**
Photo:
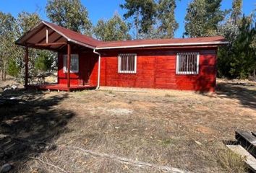
<svg viewBox="0 0 256 173"><path fill-rule="evenodd" d="M40 22L16 41L17 45L25 47L25 88L67 92L96 89L99 85L99 81L96 81L99 76L95 74L92 76L92 69L100 58L99 53L94 51L96 42L98 43L98 40L80 35L72 30L48 22ZM46 83L43 77L38 79L43 82L30 84L28 48L51 50L58 53L57 83Z"/></svg>

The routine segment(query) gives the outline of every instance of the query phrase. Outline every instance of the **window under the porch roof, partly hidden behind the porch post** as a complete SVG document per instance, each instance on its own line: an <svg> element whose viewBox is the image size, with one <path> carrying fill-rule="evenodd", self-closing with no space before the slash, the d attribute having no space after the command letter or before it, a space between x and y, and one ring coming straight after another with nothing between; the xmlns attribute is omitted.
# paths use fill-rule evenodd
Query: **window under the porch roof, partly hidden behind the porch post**
<svg viewBox="0 0 256 173"><path fill-rule="evenodd" d="M63 71L67 73L67 55L63 57ZM79 58L78 54L71 54L70 73L78 73L79 71Z"/></svg>

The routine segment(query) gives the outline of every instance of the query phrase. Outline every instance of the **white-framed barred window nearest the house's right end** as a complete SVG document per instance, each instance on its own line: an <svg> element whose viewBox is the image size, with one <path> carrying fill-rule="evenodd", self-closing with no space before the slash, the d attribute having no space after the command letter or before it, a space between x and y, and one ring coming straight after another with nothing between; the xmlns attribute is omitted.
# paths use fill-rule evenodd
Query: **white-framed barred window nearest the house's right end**
<svg viewBox="0 0 256 173"><path fill-rule="evenodd" d="M177 53L176 74L198 74L199 53Z"/></svg>

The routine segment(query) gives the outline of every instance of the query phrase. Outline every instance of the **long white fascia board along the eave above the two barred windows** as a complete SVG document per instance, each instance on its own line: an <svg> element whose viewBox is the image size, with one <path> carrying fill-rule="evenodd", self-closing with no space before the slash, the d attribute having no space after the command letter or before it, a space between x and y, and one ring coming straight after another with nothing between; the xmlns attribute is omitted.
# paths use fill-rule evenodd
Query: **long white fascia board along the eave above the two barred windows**
<svg viewBox="0 0 256 173"><path fill-rule="evenodd" d="M202 43L171 43L171 44L148 44L148 45L127 45L127 46L109 46L109 47L100 47L95 48L96 50L104 50L104 49L117 49L117 48L145 48L145 47L160 47L160 46L185 46L185 45L224 45L229 42L202 42Z"/></svg>

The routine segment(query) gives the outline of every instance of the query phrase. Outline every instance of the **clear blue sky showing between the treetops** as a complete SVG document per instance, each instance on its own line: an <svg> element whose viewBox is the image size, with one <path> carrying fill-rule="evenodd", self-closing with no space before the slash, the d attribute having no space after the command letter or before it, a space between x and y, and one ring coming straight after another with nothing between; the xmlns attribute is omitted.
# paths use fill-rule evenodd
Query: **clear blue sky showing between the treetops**
<svg viewBox="0 0 256 173"><path fill-rule="evenodd" d="M124 0L81 0L82 4L88 9L90 20L95 25L98 19L109 19L113 17L115 12L121 16L124 14L119 4L123 4ZM184 17L186 8L191 0L176 1L175 17L179 23L179 28L176 30L174 37L182 37L184 33ZM35 12L40 14L41 19L49 21L46 17L45 6L47 0L0 0L0 11L11 13L17 17L19 12ZM231 9L232 0L223 0L221 9ZM243 1L243 13L248 15L256 7L256 0Z"/></svg>

